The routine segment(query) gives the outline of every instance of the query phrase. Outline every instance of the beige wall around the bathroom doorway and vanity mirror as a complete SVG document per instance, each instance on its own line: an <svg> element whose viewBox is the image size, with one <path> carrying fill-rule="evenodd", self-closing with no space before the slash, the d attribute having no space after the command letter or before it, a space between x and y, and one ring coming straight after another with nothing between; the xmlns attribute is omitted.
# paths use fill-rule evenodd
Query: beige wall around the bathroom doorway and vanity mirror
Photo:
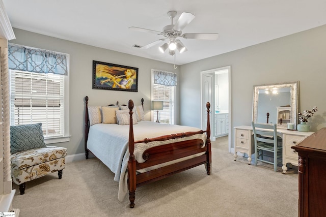
<svg viewBox="0 0 326 217"><path fill-rule="evenodd" d="M231 66L231 147L233 127L251 123L253 85L299 81L299 111L317 106L311 131L326 127L325 38L323 25L181 66L181 125L200 127L200 72Z"/></svg>

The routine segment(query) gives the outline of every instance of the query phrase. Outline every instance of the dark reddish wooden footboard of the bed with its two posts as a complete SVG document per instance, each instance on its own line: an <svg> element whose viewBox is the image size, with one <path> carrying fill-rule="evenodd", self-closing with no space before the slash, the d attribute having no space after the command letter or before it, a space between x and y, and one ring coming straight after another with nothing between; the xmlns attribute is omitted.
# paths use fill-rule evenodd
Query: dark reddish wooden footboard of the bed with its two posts
<svg viewBox="0 0 326 217"><path fill-rule="evenodd" d="M129 200L130 208L134 207L135 190L137 187L150 183L162 178L168 177L170 175L182 172L184 170L206 164L207 174L210 174L211 166L211 144L210 144L210 123L209 123L209 112L210 103L206 104L207 108L207 129L206 131L198 132L186 132L177 133L172 135L160 136L157 138L145 138L144 140L134 141L133 137L133 125L132 125L132 109L133 101L128 102L129 114L130 114L130 124L129 124L129 161L128 161L128 190L129 190ZM207 140L205 145L201 139L191 139L186 141L174 142L174 139L189 137L196 134L206 133ZM137 143L148 143L152 141L166 141L171 140L171 143L155 146L145 150L143 153L143 159L146 160L144 163L138 163L134 157L134 144ZM202 154L200 154L202 153ZM160 167L158 169L150 170L144 173L136 174L139 169L148 168L154 165L167 163L173 160L181 159L188 156L193 156L197 154L196 157L191 159L183 160L180 162L175 162L173 164Z"/></svg>

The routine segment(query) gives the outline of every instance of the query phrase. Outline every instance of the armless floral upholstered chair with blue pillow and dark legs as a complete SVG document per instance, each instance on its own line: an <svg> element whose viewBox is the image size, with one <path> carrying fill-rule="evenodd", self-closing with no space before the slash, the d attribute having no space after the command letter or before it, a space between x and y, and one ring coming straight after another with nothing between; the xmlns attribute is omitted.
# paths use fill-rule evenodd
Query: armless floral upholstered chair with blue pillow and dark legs
<svg viewBox="0 0 326 217"><path fill-rule="evenodd" d="M10 126L11 177L25 193L25 182L57 172L62 178L67 148L46 146L42 123Z"/></svg>

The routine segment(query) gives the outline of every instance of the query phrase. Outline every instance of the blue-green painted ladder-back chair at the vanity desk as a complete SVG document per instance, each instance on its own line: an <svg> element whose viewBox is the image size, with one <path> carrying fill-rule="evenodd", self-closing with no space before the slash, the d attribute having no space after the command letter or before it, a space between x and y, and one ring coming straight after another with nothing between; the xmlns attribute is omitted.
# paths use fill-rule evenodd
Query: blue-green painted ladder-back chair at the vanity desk
<svg viewBox="0 0 326 217"><path fill-rule="evenodd" d="M254 133L256 166L258 161L273 164L276 172L278 163L282 162L282 139L277 136L276 123L252 122L251 126ZM273 161L269 161L268 157L264 158L264 151L273 153Z"/></svg>

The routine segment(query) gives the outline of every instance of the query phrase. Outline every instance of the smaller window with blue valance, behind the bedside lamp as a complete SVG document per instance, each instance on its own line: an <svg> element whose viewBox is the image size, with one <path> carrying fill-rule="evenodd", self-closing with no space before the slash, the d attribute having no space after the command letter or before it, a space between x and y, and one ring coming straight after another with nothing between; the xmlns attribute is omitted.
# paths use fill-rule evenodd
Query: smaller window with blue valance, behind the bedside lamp
<svg viewBox="0 0 326 217"><path fill-rule="evenodd" d="M173 79L174 82L168 82ZM152 101L163 101L163 110L158 111L158 120L161 123L176 123L176 74L152 70ZM152 120L156 120L157 113L152 112Z"/></svg>

